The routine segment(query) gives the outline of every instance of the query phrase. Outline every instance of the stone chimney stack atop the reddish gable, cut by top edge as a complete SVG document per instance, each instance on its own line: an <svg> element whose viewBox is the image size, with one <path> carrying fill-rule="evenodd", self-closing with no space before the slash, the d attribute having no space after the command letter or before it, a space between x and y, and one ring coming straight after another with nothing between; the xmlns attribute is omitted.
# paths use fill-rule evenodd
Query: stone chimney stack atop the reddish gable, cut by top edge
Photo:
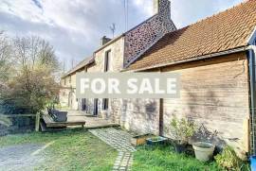
<svg viewBox="0 0 256 171"><path fill-rule="evenodd" d="M157 13L171 16L171 2L170 0L153 0L154 1L154 15Z"/></svg>

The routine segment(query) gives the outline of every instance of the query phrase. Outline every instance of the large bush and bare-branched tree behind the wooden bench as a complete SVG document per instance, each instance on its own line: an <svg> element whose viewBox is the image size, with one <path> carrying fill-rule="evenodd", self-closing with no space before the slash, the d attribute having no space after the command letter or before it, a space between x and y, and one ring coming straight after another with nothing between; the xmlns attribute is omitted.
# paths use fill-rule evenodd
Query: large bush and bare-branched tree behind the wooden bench
<svg viewBox="0 0 256 171"><path fill-rule="evenodd" d="M59 92L55 79L59 62L54 48L39 37L25 37L15 38L11 51L15 73L9 80L8 93L2 95L2 106L11 106L14 113L43 110Z"/></svg>

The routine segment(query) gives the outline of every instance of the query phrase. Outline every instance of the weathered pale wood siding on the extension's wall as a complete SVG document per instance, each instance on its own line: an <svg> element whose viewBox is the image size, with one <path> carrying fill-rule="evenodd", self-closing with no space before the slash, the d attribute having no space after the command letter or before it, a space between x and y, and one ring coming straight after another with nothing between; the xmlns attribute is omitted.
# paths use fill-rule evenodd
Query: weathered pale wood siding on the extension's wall
<svg viewBox="0 0 256 171"><path fill-rule="evenodd" d="M166 67L162 72L181 74L180 98L163 100L165 136L172 137L169 126L176 115L217 130L218 136L230 144L239 144L240 148L247 144L243 139L243 123L249 115L245 53Z"/></svg>

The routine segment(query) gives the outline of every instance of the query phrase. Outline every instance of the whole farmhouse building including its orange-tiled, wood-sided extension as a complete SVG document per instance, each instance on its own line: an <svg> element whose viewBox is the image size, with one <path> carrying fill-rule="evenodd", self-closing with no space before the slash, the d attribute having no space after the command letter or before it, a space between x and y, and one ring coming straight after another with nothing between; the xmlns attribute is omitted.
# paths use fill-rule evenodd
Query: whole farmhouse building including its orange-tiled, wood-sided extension
<svg viewBox="0 0 256 171"><path fill-rule="evenodd" d="M180 73L180 98L87 99L87 111L108 111L109 118L124 128L170 138L174 115L187 117L216 130L219 145L225 142L241 155L250 150L255 154L256 1L177 30L169 8L162 6L165 3L170 5L167 0L155 1L157 12L152 18L102 45L83 69L76 71ZM162 31L145 35L144 29L155 30L149 23L157 17L165 19L157 25L163 26ZM147 45L138 50L143 43Z"/></svg>

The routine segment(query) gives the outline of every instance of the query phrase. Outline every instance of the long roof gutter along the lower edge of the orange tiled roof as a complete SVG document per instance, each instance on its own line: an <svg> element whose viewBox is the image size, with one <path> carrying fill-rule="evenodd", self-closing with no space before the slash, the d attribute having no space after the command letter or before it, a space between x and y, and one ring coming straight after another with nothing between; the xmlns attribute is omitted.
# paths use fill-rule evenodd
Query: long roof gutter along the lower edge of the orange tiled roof
<svg viewBox="0 0 256 171"><path fill-rule="evenodd" d="M140 68L140 69L136 69L136 70L123 69L123 70L121 70L121 72L141 72L141 71L146 71L146 70L155 69L155 68L161 68L161 67L165 67L165 66L169 66L169 65L185 63L185 62L189 62L189 61L204 60L204 59L210 59L210 58L213 58L213 57L219 57L219 56L234 54L234 53L243 52L243 51L246 51L246 50L247 50L247 46L241 46L241 47L237 47L237 48L222 51L222 52L216 52L216 53L212 53L212 54L209 54L209 55L195 57L195 58L192 58L192 59L189 59L189 60L172 61L172 62L169 62L169 63L153 65L153 66Z"/></svg>

